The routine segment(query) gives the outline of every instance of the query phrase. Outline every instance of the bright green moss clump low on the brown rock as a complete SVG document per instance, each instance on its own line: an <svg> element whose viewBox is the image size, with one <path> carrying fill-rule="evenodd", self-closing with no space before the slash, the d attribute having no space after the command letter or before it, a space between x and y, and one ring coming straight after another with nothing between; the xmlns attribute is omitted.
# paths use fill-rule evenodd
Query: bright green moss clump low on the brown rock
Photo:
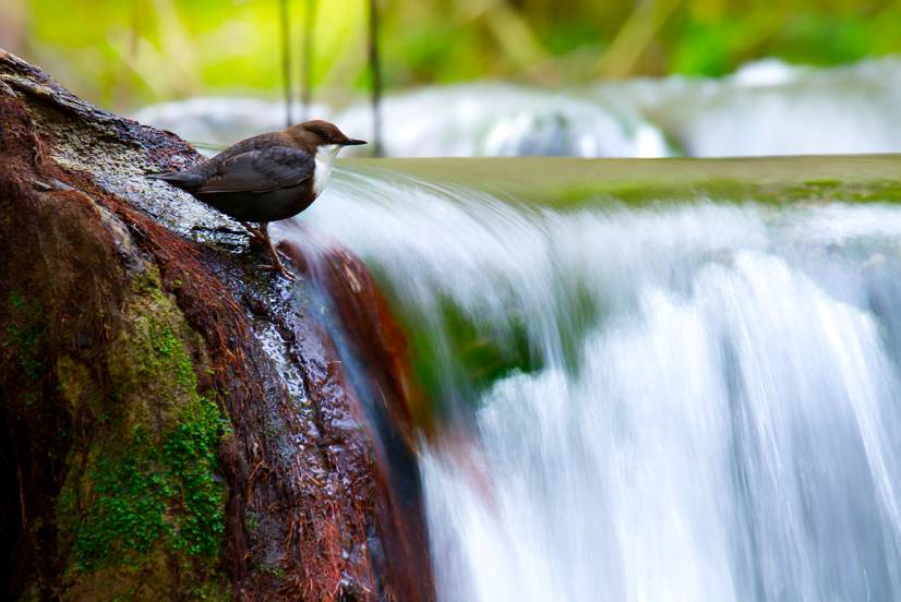
<svg viewBox="0 0 901 602"><path fill-rule="evenodd" d="M161 447L142 428L115 458L98 458L94 503L74 528L79 570L141 564L161 539L167 547L214 561L221 547L224 492L217 450L224 423L216 404L197 398Z"/></svg>

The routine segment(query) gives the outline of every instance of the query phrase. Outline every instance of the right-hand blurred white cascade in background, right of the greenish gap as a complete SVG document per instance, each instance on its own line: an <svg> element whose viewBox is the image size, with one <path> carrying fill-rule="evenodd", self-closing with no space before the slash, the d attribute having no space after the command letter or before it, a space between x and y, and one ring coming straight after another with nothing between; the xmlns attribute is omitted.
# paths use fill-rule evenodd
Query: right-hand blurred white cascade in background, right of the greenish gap
<svg viewBox="0 0 901 602"><path fill-rule="evenodd" d="M752 63L723 80L633 81L596 86L692 157L898 153L901 60L832 69Z"/></svg>

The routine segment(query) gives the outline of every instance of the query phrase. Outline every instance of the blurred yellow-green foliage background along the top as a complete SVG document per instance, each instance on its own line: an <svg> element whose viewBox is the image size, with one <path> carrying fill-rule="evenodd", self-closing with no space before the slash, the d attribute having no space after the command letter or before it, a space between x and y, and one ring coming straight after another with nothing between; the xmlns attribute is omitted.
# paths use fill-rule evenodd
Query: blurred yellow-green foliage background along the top
<svg viewBox="0 0 901 602"><path fill-rule="evenodd" d="M309 1L287 0L295 82ZM368 1L312 5L314 95L334 100L365 89ZM901 50L901 0L379 5L387 91L476 79L566 85L716 76L764 57L828 65ZM201 94L276 96L279 32L279 0L0 0L0 47L117 110Z"/></svg>

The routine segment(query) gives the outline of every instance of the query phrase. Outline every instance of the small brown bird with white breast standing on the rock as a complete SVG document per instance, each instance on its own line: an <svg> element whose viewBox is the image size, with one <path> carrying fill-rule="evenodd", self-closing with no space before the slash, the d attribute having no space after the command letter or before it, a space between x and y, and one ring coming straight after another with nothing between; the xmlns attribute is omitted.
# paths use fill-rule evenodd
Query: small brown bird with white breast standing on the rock
<svg viewBox="0 0 901 602"><path fill-rule="evenodd" d="M358 144L367 142L314 119L237 142L190 169L147 178L168 182L237 219L265 244L273 262L265 268L293 280L273 246L268 225L307 209L325 188L338 152Z"/></svg>

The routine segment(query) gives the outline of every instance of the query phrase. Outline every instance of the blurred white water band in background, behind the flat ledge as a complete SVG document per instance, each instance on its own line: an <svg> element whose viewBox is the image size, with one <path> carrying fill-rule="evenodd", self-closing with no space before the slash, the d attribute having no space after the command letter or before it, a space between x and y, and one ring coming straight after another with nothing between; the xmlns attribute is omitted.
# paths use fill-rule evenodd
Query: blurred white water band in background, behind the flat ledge
<svg viewBox="0 0 901 602"><path fill-rule="evenodd" d="M295 115L299 115L295 110ZM353 137L368 104L317 105ZM502 83L434 86L384 100L388 156L661 157L901 152L901 60L816 70L752 63L722 80L678 76L558 91ZM136 118L228 145L284 127L277 101L194 98ZM349 149L365 153L365 149Z"/></svg>

